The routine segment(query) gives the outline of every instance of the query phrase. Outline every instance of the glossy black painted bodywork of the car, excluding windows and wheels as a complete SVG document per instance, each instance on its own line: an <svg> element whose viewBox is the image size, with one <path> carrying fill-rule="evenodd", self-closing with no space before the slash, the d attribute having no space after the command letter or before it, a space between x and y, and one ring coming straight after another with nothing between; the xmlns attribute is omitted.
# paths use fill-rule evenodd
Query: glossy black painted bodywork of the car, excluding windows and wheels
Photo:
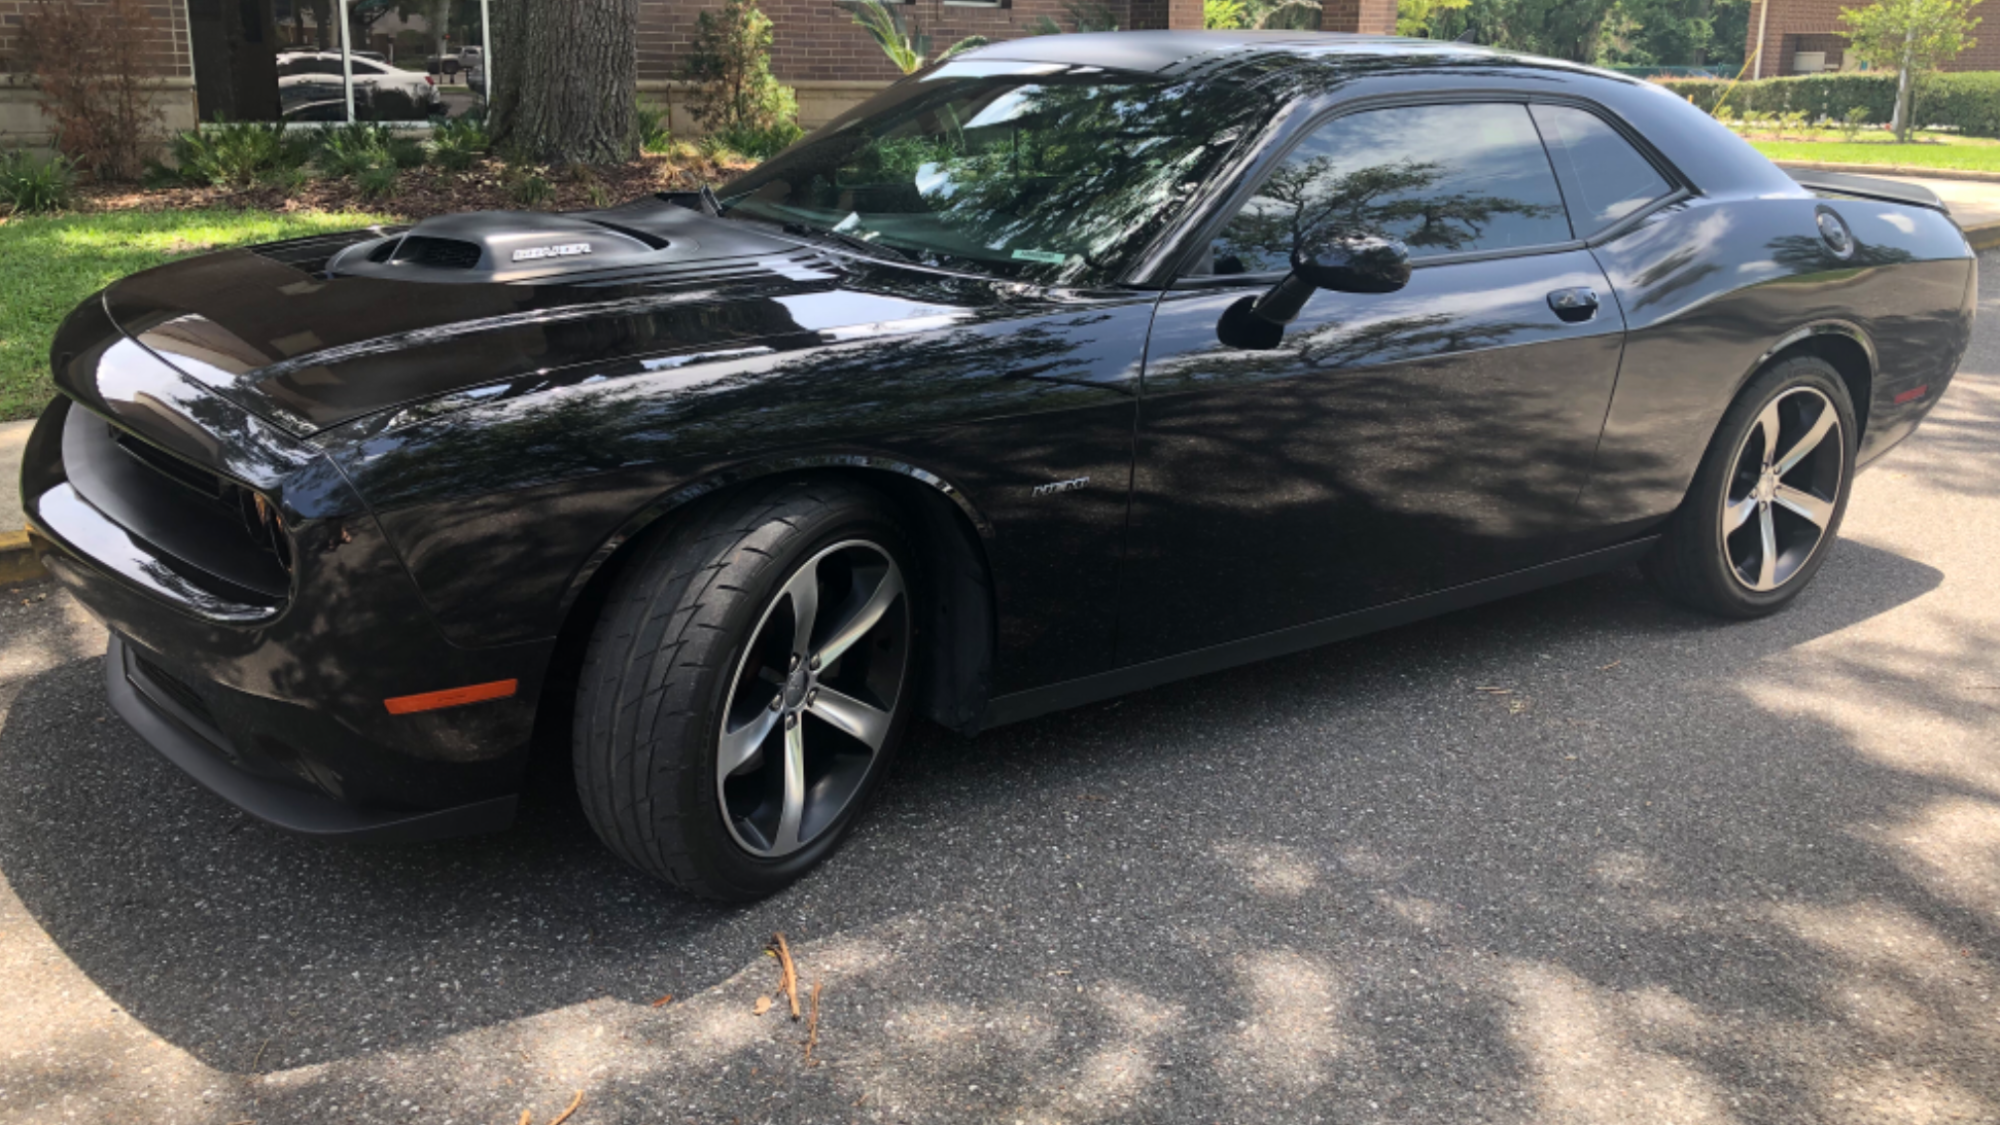
<svg viewBox="0 0 2000 1125"><path fill-rule="evenodd" d="M494 809L626 542L760 476L840 472L936 540L954 595L932 635L956 649L930 709L974 729L1630 560L1772 354L1848 372L1872 458L1970 334L1972 256L1942 212L1866 182L1808 192L1640 82L1348 36L1050 36L980 58L1212 72L1272 112L1106 290L640 200L614 222L694 250L530 284L330 276L394 234L364 230L192 258L78 308L24 498L50 571L178 685L128 677L128 707L184 691L198 707L144 715L366 823ZM1674 192L1588 240L1316 290L1276 338L1224 342L1226 312L1278 282L1188 276L1234 202L1318 122L1436 100L1592 108ZM1580 290L1590 316L1552 300ZM114 484L134 478L104 460L126 438L268 500L288 589L240 544L176 542L216 510L148 534L130 504L112 518L110 492L166 486ZM382 705L500 679L518 693Z"/></svg>

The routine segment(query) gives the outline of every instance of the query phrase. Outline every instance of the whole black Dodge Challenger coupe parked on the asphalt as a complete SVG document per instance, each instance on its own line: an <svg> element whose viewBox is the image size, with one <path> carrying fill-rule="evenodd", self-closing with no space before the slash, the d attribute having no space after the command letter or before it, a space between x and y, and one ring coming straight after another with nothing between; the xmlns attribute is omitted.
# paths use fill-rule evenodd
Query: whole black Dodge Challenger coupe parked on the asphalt
<svg viewBox="0 0 2000 1125"><path fill-rule="evenodd" d="M120 715L288 829L750 899L976 731L1640 562L1772 613L1966 348L1908 186L1658 86L1048 36L720 190L182 260L62 326L36 548Z"/></svg>

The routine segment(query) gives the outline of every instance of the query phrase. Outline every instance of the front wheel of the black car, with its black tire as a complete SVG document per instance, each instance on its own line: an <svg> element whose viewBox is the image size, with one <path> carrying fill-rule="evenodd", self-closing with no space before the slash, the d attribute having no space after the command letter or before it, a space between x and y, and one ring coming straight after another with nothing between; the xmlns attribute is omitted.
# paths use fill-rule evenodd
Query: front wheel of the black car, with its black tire
<svg viewBox="0 0 2000 1125"><path fill-rule="evenodd" d="M826 725L820 711L808 713L804 695L790 699L800 677L806 677L804 671L782 675L772 685L770 677L782 657L774 657L770 649L774 643L796 647L794 627L782 617L796 617L798 595L792 591L806 589L794 579L814 589L844 583L840 589L828 587L824 603L826 619L838 627L834 617L862 597L854 591L862 589L874 550L890 560L880 587L886 589L888 579L896 577L894 597L902 601L880 613L876 631L850 641L848 657L826 665L824 683L810 681L810 699L816 703L822 689L828 699L842 703L852 703L842 691L870 697L870 707L890 699L880 707L888 721L868 727L870 737L880 737L880 747L856 781L854 751L866 743ZM920 577L912 562L914 550L894 508L866 488L832 480L784 482L724 498L640 544L638 556L614 579L590 635L576 689L576 787L598 837L634 867L694 895L722 901L772 895L832 855L880 785L908 729L916 683L918 615L912 607L920 597ZM820 603L814 605L814 615L818 609ZM866 607L854 613L862 615ZM814 615L808 615L808 635L814 633ZM890 645L878 633L898 633L902 639L894 677L884 671L890 665L882 653ZM838 677L858 669L866 671L862 681L850 685L840 679L840 691L832 691ZM814 665L812 677L818 675ZM892 697L880 687L890 679ZM782 729L772 729L776 749L764 741L764 749L738 767L746 773L724 773L718 761L724 737L748 745L752 739L742 733L762 719L766 707L760 701L772 699L776 703L768 711L778 717L772 723L782 723ZM752 719L724 731L738 713ZM818 753L810 761L818 763L812 769L822 769L816 781L796 783L806 795L796 805L784 789L806 777L786 773L794 727L800 761ZM886 737L880 735L884 729ZM808 731L836 749L806 749ZM736 819L730 813L730 795L748 789L756 801L760 787L770 781L770 769L778 771L780 805L786 809L778 819L790 825L788 839L796 849L782 855L756 853L758 843L772 849L778 845L758 835L754 815ZM826 817L806 841L802 817L810 815L810 807L804 801L812 801L812 793L836 789L844 795L838 815L828 813L832 805L824 805L820 811ZM794 811L802 807L808 809L804 815ZM756 809L764 811L766 805L758 803ZM772 831L768 821L764 815L762 831L774 839L784 835L782 823Z"/></svg>

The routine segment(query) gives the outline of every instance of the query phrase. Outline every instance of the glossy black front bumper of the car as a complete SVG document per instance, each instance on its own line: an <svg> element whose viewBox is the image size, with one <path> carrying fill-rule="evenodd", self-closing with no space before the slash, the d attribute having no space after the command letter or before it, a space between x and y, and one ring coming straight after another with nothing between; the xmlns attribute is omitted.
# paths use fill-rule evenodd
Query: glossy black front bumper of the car
<svg viewBox="0 0 2000 1125"><path fill-rule="evenodd" d="M50 404L24 450L22 506L42 567L114 635L106 683L132 729L284 829L416 839L504 827L552 641L452 645L316 448L130 340L74 354L120 396L72 390ZM180 458L166 474L162 454ZM226 542L212 496L206 512L186 504L198 472L282 508L276 577ZM384 703L506 679L520 685L510 699L416 715Z"/></svg>

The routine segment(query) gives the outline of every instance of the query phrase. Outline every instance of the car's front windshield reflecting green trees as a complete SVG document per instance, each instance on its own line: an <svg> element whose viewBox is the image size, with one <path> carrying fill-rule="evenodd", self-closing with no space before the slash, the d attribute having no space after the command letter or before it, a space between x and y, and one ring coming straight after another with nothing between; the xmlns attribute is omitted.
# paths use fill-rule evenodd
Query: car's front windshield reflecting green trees
<svg viewBox="0 0 2000 1125"><path fill-rule="evenodd" d="M926 264L1104 284L1214 172L1252 106L1222 82L968 60L898 82L720 196L730 218Z"/></svg>

